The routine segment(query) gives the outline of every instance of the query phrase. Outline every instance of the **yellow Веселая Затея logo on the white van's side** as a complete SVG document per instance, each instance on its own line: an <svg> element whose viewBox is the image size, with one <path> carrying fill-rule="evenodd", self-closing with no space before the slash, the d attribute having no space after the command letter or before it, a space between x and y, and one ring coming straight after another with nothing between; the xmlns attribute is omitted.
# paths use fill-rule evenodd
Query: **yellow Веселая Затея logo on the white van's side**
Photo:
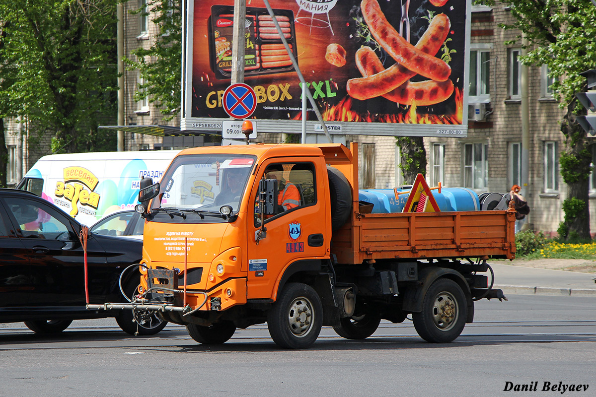
<svg viewBox="0 0 596 397"><path fill-rule="evenodd" d="M89 170L83 167L64 168L64 182L56 183L56 197L64 197L72 203L72 210L69 214L74 217L79 213L79 206L88 205L97 210L100 204L100 194L95 193L95 187L99 180ZM85 187L89 190L86 190Z"/></svg>

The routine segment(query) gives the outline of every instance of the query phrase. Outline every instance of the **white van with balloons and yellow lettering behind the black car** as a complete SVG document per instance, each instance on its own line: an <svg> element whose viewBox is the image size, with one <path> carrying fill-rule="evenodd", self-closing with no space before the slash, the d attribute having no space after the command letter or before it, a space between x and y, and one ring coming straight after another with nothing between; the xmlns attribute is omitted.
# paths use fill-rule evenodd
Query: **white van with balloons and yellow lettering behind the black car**
<svg viewBox="0 0 596 397"><path fill-rule="evenodd" d="M29 190L91 226L112 212L134 208L141 177L159 181L178 152L47 155L27 171L17 189Z"/></svg>

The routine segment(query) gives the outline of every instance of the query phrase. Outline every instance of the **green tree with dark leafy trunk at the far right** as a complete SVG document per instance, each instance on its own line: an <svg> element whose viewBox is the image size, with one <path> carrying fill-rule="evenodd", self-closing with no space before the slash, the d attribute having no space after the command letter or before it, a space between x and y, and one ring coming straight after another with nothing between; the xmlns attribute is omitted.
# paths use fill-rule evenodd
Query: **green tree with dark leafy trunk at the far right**
<svg viewBox="0 0 596 397"><path fill-rule="evenodd" d="M561 151L560 167L563 181L569 186L569 196L563 203L565 219L558 232L563 238L589 238L591 143L576 121L576 115L586 114L586 110L576 101L575 94L586 88L585 78L579 73L596 67L596 7L591 0L510 0L501 3L510 7L515 19L513 24L503 24L502 27L522 32L512 42L522 40L522 35L529 42L527 55L520 60L526 65L548 65L550 77L555 78L552 85L555 98L560 101L561 108L567 109L561 120L566 147Z"/></svg>

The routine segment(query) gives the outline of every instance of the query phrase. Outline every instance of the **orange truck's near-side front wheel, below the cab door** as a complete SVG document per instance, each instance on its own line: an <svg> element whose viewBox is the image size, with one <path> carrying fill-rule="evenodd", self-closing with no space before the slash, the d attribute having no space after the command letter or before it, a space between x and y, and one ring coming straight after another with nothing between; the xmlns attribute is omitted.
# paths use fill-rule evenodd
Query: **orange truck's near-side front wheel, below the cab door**
<svg viewBox="0 0 596 397"><path fill-rule="evenodd" d="M306 349L315 343L323 323L321 298L312 287L288 283L267 314L269 335L286 349Z"/></svg>

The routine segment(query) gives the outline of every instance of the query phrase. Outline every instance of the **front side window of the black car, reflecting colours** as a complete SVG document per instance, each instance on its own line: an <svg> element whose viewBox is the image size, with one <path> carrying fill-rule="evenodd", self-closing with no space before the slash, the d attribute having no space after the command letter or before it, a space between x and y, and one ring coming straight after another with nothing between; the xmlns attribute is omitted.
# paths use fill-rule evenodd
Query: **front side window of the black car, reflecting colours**
<svg viewBox="0 0 596 397"><path fill-rule="evenodd" d="M45 211L47 208L44 205L14 197L5 198L5 201L8 211L13 214L24 237L63 239L69 236L70 224L49 214Z"/></svg>

